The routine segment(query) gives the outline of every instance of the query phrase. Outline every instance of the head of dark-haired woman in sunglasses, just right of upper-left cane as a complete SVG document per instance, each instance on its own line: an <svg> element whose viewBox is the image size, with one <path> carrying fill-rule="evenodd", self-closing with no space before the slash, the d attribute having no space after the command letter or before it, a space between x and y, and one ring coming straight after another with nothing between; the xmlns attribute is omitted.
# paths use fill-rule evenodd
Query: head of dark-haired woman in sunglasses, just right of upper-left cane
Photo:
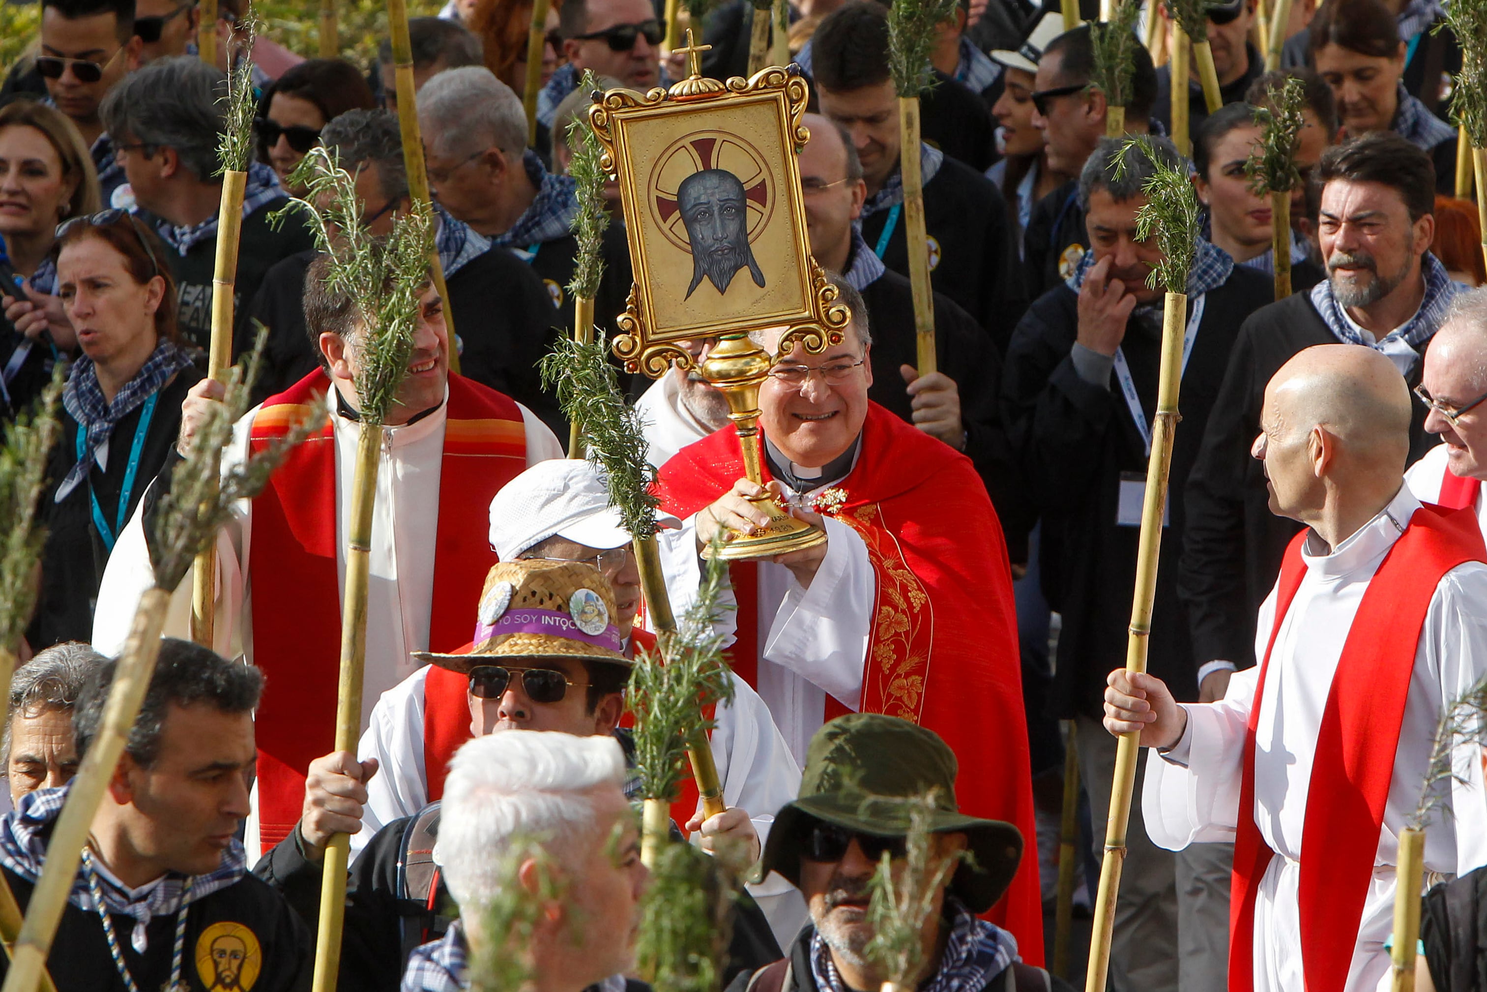
<svg viewBox="0 0 1487 992"><path fill-rule="evenodd" d="M254 122L259 161L280 181L320 143L320 131L346 110L372 110L376 98L361 71L341 58L312 58L291 67L269 86Z"/></svg>

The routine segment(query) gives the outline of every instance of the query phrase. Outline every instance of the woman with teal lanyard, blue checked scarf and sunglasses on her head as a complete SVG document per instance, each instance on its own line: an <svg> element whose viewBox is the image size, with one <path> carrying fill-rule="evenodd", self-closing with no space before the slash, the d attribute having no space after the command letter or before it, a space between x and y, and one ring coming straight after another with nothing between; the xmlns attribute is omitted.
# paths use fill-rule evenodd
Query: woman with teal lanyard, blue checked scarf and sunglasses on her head
<svg viewBox="0 0 1487 992"><path fill-rule="evenodd" d="M181 402L201 379L177 345L175 283L143 223L119 210L76 217L52 248L82 355L62 393L62 436L42 498L48 537L34 648L92 637L114 538L175 449Z"/></svg>

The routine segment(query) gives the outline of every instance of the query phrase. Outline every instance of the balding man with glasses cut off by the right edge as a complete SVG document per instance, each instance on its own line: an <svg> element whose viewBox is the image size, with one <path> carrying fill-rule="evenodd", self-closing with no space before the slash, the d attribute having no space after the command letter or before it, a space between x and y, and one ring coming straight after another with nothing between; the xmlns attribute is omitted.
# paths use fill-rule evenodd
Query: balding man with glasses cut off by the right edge
<svg viewBox="0 0 1487 992"><path fill-rule="evenodd" d="M1428 410L1425 430L1441 436L1405 473L1422 503L1471 507L1487 524L1487 289L1460 293L1430 339L1414 391Z"/></svg>

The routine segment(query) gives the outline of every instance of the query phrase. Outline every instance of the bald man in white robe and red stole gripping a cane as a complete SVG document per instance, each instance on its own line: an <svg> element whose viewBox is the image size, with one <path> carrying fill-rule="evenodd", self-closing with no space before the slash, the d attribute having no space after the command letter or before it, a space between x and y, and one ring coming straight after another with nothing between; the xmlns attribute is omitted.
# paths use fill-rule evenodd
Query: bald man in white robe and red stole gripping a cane
<svg viewBox="0 0 1487 992"><path fill-rule="evenodd" d="M1111 672L1105 726L1139 732L1146 833L1234 842L1231 989L1390 983L1396 837L1442 708L1487 674L1487 552L1469 512L1404 485L1410 393L1362 345L1301 351L1265 387L1252 454L1270 509L1306 529L1259 610L1258 668L1213 703ZM1481 766L1453 756L1428 873L1487 864Z"/></svg>

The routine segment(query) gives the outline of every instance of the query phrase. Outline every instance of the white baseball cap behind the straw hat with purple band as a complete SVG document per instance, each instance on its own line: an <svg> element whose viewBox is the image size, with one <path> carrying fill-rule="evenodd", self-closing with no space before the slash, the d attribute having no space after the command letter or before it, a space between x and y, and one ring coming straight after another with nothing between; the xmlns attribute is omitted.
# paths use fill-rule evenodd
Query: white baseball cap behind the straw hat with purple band
<svg viewBox="0 0 1487 992"><path fill-rule="evenodd" d="M680 526L657 513L662 526ZM501 561L549 537L608 550L630 543L620 512L610 506L604 473L580 458L540 461L516 476L491 500L491 547Z"/></svg>

